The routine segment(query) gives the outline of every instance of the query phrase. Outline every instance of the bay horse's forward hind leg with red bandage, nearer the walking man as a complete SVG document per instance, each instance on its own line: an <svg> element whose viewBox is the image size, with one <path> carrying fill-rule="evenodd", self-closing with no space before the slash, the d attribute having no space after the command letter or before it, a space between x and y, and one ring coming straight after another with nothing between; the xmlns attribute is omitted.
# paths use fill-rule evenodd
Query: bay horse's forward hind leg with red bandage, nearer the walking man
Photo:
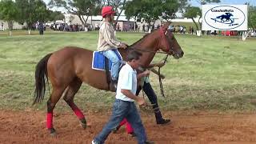
<svg viewBox="0 0 256 144"><path fill-rule="evenodd" d="M66 94L64 95L64 100L70 106L70 108L74 111L74 114L77 115L82 128L86 128L86 118L82 114L82 111L74 104L74 94L76 94L82 85L82 81L79 78L74 78L70 85L66 90Z"/></svg>

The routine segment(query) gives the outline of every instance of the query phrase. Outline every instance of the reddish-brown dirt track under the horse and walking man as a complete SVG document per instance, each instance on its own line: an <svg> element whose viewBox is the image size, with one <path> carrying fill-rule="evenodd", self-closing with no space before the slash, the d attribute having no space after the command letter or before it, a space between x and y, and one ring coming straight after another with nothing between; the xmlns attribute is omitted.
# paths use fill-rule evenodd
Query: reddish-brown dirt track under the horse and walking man
<svg viewBox="0 0 256 144"><path fill-rule="evenodd" d="M142 114L142 121L150 140L156 143L256 143L256 114L216 114L197 112L165 113L172 118L168 126L156 126L153 115ZM90 127L78 124L71 112L54 114L58 132L51 138L46 130L46 115L42 111L0 112L0 143L90 143L106 124L109 114L86 114ZM136 143L125 133L110 134L106 143Z"/></svg>

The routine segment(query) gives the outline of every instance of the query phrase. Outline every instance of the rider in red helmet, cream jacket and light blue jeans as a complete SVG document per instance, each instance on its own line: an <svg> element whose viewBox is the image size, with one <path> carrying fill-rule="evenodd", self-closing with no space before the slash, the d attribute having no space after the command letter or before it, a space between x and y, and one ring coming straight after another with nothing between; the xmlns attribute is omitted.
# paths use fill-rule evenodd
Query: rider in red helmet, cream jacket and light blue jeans
<svg viewBox="0 0 256 144"><path fill-rule="evenodd" d="M112 26L114 14L115 12L112 6L104 6L102 8L102 18L104 18L104 20L99 30L98 51L102 51L102 54L112 62L110 89L115 90L118 82L120 62L113 50L118 49L118 47L126 48L127 45L123 42L119 42L114 36L114 27Z"/></svg>

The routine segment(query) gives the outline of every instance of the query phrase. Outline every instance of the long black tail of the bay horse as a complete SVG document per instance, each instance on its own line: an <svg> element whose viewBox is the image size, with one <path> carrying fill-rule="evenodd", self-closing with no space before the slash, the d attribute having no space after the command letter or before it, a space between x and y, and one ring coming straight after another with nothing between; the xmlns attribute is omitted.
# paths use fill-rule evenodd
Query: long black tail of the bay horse
<svg viewBox="0 0 256 144"><path fill-rule="evenodd" d="M34 90L34 102L33 105L37 102L42 102L45 92L46 92L46 82L48 82L48 74L47 74L47 62L50 58L51 54L47 54L44 58L38 62L38 65L35 69L35 90Z"/></svg>

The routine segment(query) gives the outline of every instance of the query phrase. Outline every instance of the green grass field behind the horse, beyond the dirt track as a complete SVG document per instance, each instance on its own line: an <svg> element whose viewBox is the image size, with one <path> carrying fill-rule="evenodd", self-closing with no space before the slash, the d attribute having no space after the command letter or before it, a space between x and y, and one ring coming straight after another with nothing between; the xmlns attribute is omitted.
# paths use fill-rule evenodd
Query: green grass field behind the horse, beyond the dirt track
<svg viewBox="0 0 256 144"><path fill-rule="evenodd" d="M46 31L43 36L26 35L15 31L13 37L0 32L0 109L46 110L45 102L31 106L34 99L34 67L46 54L63 46L80 46L96 50L98 33L59 33ZM17 36L15 36L17 35ZM117 33L129 44L142 38L141 33ZM165 110L256 110L256 39L246 42L236 37L177 34L185 55L169 58L162 68L166 75L162 98L158 78L150 79ZM164 57L156 55L154 62ZM75 97L83 110L108 110L114 102L114 93L96 90L83 84ZM61 99L58 110L70 110Z"/></svg>

